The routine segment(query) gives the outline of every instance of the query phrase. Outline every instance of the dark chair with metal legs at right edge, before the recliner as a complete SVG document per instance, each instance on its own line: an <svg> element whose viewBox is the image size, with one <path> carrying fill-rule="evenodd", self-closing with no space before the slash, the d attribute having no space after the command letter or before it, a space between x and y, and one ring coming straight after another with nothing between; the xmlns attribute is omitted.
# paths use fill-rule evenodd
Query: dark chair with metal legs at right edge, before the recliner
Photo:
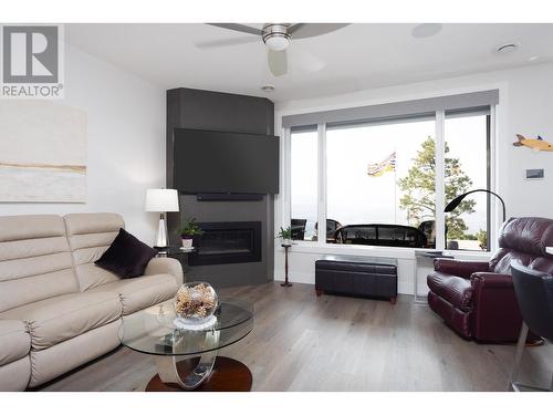
<svg viewBox="0 0 553 415"><path fill-rule="evenodd" d="M546 272L535 271L522 266L519 261L511 262L514 292L522 314L514 366L509 381L509 390L553 391L553 377L549 390L522 385L517 382L522 353L529 330L545 341L553 342L553 277Z"/></svg>

